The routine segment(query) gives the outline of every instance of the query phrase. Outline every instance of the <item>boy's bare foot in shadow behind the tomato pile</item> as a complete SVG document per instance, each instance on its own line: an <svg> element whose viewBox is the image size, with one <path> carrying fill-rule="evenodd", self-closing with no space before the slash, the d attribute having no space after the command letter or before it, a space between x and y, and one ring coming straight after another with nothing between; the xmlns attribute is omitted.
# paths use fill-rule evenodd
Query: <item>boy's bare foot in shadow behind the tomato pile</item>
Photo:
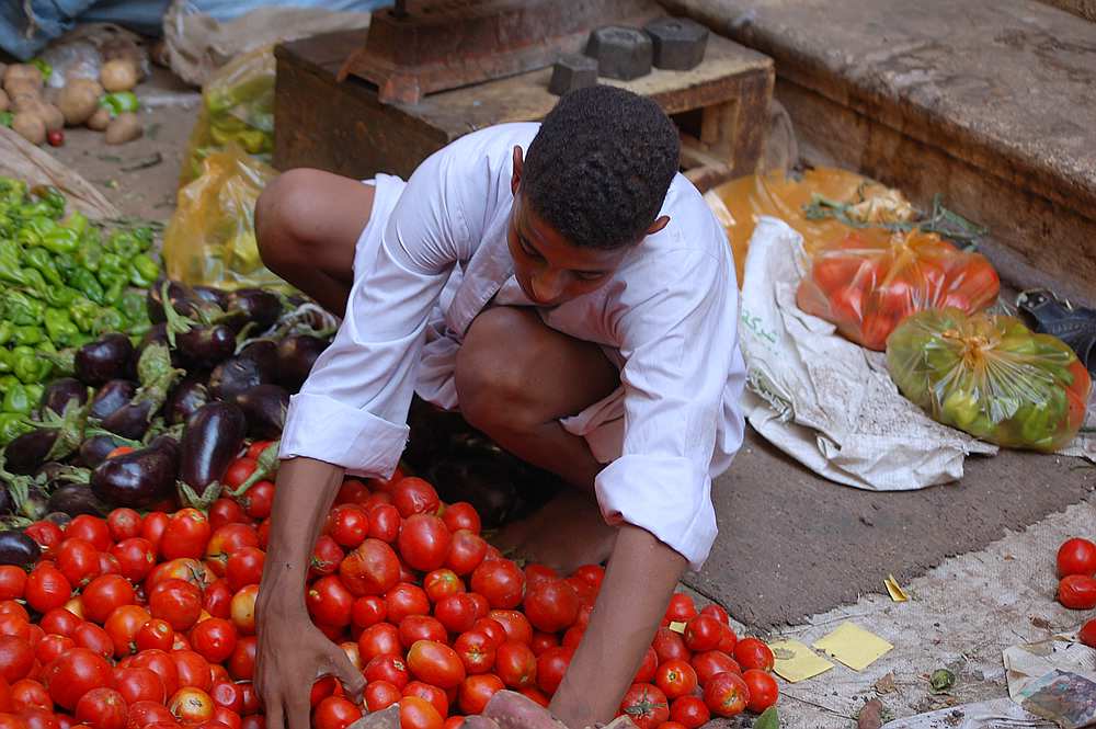
<svg viewBox="0 0 1096 729"><path fill-rule="evenodd" d="M511 557L547 565L570 574L609 558L617 529L602 519L591 494L564 489L528 519L506 524L492 539Z"/></svg>

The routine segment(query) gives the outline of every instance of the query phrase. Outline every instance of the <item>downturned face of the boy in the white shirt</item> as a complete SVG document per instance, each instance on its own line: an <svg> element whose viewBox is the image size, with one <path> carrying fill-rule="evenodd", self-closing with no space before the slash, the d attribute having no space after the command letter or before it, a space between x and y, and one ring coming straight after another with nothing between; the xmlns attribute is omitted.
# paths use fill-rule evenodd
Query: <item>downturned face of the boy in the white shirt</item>
<svg viewBox="0 0 1096 729"><path fill-rule="evenodd" d="M537 306L559 306L607 282L630 250L574 246L540 219L518 193L506 231L514 276Z"/></svg>

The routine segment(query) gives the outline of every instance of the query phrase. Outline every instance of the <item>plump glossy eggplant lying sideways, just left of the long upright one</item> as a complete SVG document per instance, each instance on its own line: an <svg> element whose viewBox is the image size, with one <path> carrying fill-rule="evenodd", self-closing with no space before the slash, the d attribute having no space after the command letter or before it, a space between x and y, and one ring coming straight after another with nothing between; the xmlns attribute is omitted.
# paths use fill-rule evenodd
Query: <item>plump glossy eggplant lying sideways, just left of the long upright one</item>
<svg viewBox="0 0 1096 729"><path fill-rule="evenodd" d="M140 448L99 464L91 472L91 490L115 506L148 506L171 493L176 467L171 449Z"/></svg>

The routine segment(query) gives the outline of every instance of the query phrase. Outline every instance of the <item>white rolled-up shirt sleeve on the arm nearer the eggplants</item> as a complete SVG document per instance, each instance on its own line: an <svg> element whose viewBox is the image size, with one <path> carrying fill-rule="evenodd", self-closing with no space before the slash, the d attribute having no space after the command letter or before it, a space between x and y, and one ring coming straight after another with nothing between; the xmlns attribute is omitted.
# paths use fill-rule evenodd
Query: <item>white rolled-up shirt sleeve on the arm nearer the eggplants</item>
<svg viewBox="0 0 1096 729"><path fill-rule="evenodd" d="M289 400L282 458L305 456L383 478L395 470L427 317L454 263L468 254L453 162L448 150L429 158L383 233L363 233L346 316Z"/></svg>

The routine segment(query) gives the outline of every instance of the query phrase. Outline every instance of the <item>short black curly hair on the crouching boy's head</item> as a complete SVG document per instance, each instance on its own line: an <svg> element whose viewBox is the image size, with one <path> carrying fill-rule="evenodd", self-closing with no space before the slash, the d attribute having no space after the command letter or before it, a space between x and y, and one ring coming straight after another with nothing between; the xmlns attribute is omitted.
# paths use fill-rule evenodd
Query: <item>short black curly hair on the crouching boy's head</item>
<svg viewBox="0 0 1096 729"><path fill-rule="evenodd" d="M574 246L638 242L677 173L673 122L644 96L595 86L564 94L525 156L521 192Z"/></svg>

